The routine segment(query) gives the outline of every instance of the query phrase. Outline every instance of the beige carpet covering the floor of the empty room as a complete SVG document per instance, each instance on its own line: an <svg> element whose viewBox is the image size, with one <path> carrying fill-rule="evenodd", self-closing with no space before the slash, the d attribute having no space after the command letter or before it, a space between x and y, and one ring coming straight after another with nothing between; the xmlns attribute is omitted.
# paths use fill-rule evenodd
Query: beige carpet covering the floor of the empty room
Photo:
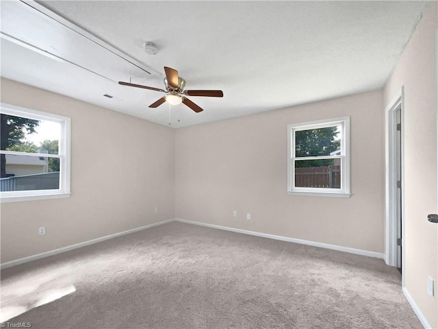
<svg viewBox="0 0 438 329"><path fill-rule="evenodd" d="M8 321L32 329L422 328L400 274L383 260L185 223L11 267L1 284L10 291L66 269L76 291Z"/></svg>

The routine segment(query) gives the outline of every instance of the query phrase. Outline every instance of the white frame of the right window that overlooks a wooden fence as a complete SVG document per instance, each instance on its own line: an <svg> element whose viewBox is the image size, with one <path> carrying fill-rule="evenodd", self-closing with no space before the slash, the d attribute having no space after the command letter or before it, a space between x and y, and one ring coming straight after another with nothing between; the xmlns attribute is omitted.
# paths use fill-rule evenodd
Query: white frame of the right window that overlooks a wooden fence
<svg viewBox="0 0 438 329"><path fill-rule="evenodd" d="M341 125L340 156L295 156L295 132ZM341 188L310 188L295 186L295 160L341 159ZM287 125L287 194L320 197L350 197L350 117L293 123Z"/></svg>

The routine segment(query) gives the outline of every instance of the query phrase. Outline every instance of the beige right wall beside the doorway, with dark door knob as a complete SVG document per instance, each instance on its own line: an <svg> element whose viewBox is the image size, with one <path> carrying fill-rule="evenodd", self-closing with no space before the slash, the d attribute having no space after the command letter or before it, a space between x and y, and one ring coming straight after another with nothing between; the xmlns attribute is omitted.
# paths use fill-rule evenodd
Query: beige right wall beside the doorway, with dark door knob
<svg viewBox="0 0 438 329"><path fill-rule="evenodd" d="M404 86L404 222L406 287L428 322L438 326L437 225L437 2L417 26L385 88L385 105ZM435 297L426 293L435 280Z"/></svg>

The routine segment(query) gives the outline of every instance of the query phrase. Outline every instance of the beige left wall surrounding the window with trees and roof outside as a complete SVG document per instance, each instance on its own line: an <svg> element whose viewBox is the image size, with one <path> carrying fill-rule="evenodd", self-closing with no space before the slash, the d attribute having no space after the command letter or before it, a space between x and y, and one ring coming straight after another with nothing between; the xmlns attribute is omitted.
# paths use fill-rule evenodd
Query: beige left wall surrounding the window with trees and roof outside
<svg viewBox="0 0 438 329"><path fill-rule="evenodd" d="M70 117L72 135L71 197L1 204L1 263L175 217L175 130L10 80L1 101Z"/></svg>

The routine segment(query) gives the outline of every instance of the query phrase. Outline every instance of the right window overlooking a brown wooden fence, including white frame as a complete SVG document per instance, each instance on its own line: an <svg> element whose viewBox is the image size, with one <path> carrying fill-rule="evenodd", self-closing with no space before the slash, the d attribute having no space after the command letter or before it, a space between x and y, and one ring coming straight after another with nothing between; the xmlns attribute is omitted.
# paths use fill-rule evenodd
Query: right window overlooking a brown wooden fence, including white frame
<svg viewBox="0 0 438 329"><path fill-rule="evenodd" d="M350 117L287 126L287 193L350 197Z"/></svg>

